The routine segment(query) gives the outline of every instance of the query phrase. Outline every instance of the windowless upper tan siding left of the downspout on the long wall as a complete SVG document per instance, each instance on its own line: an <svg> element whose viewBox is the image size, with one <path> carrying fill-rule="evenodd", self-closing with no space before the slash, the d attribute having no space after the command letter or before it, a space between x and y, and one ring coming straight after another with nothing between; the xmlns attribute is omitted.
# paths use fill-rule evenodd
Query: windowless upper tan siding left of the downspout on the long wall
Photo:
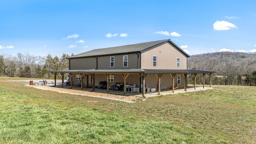
<svg viewBox="0 0 256 144"><path fill-rule="evenodd" d="M86 70L96 68L96 58L70 59L70 70Z"/></svg>

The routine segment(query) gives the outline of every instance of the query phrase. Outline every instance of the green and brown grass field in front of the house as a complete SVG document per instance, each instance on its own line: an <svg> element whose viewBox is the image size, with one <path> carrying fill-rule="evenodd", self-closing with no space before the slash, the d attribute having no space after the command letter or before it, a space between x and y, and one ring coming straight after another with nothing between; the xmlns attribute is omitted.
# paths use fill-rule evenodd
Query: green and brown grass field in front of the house
<svg viewBox="0 0 256 144"><path fill-rule="evenodd" d="M255 144L256 87L126 103L61 94L0 78L2 144Z"/></svg>

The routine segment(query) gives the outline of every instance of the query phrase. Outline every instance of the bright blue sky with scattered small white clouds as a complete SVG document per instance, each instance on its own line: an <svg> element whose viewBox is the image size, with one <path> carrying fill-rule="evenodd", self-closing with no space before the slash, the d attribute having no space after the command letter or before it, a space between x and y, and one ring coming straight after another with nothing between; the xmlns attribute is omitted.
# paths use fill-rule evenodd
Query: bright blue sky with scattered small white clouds
<svg viewBox="0 0 256 144"><path fill-rule="evenodd" d="M61 56L170 39L190 55L256 52L255 0L1 0L0 54Z"/></svg>

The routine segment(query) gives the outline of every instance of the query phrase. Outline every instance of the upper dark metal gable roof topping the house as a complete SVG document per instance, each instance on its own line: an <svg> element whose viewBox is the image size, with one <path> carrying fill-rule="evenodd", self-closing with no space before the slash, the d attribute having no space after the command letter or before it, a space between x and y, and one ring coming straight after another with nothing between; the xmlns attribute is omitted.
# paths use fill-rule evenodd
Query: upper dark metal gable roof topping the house
<svg viewBox="0 0 256 144"><path fill-rule="evenodd" d="M113 54L128 54L128 53L136 53L141 52L142 50L151 48L156 46L157 44L170 42L174 47L176 47L180 52L185 54L187 57L190 57L186 52L184 52L180 47L174 44L170 39L167 40L158 40L154 42L144 42L140 44L130 44L126 46L116 46L111 48L100 48L90 50L88 52L83 52L81 54L76 54L74 56L70 56L68 58L83 58L83 57L92 57L92 56L106 56L106 55L113 55Z"/></svg>

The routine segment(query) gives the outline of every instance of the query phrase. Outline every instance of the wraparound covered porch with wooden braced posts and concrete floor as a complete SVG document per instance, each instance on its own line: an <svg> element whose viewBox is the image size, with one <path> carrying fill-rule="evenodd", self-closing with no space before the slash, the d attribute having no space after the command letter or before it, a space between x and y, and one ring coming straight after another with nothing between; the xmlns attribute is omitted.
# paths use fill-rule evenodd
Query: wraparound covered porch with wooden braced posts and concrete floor
<svg viewBox="0 0 256 144"><path fill-rule="evenodd" d="M116 91L114 92L115 94L118 95L124 95L124 96L130 96L130 95L136 95L138 93L142 94L142 97L150 97L153 96L154 94L156 95L164 95L165 93L177 93L180 91L183 92L188 92L188 87L187 87L187 75L188 74L192 74L193 78L194 78L194 90L197 90L196 87L196 75L197 74L202 74L203 76L203 86L202 89L204 89L204 76L205 74L207 74L210 77L210 88L211 88L211 74L214 73L214 71L204 71L204 70L151 70L151 69L122 69L122 70L60 70L60 71L52 71L52 73L54 73L54 77L55 77L55 85L56 86L56 74L60 73L62 75L62 84L61 87L64 88L66 87L64 84L64 74L68 73L71 76L71 81L70 81L70 86L68 86L70 89L80 89L80 90L88 90L88 91L93 91L93 92L102 92L102 93L112 93L114 90L110 89L110 84L109 84L109 78L112 74L120 74L123 78L123 82L124 82L124 86L126 86L126 78L128 78L129 75L131 74L137 74L140 76L142 83L140 84L141 86L139 86L139 91L140 92L136 92L136 93L129 93L126 92L126 88L124 88L122 91ZM79 74L81 77L81 84L80 87L74 87L72 84L72 76L74 74ZM106 76L106 89L98 89L95 86L95 78L97 76L97 74L104 74ZM146 93L146 85L145 85L145 78L148 74L154 74L156 76L156 78L158 79L158 88L156 92L150 92L150 93ZM171 85L171 90L162 90L161 91L161 76L163 74L170 74L171 78L172 78L172 85ZM183 78L184 78L184 89L176 89L175 88L175 82L174 82L174 77L177 74L182 74ZM93 82L92 82L92 88L84 88L83 87L83 77L85 75L90 75L93 77ZM200 89L200 88L199 88ZM166 92L167 91L167 92Z"/></svg>

